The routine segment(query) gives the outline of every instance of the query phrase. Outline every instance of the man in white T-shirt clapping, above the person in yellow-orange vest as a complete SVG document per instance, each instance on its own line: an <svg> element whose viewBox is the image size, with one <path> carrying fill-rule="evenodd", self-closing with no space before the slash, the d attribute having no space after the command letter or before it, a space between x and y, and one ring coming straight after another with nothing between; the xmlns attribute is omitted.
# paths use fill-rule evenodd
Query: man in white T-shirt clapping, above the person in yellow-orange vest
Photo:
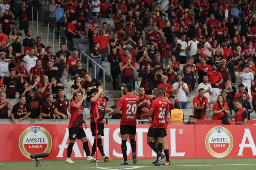
<svg viewBox="0 0 256 170"><path fill-rule="evenodd" d="M177 74L177 82L172 85L172 91L175 93L175 99L180 101L180 109L188 107L188 99L186 93L189 93L188 85L182 81L182 74Z"/></svg>

